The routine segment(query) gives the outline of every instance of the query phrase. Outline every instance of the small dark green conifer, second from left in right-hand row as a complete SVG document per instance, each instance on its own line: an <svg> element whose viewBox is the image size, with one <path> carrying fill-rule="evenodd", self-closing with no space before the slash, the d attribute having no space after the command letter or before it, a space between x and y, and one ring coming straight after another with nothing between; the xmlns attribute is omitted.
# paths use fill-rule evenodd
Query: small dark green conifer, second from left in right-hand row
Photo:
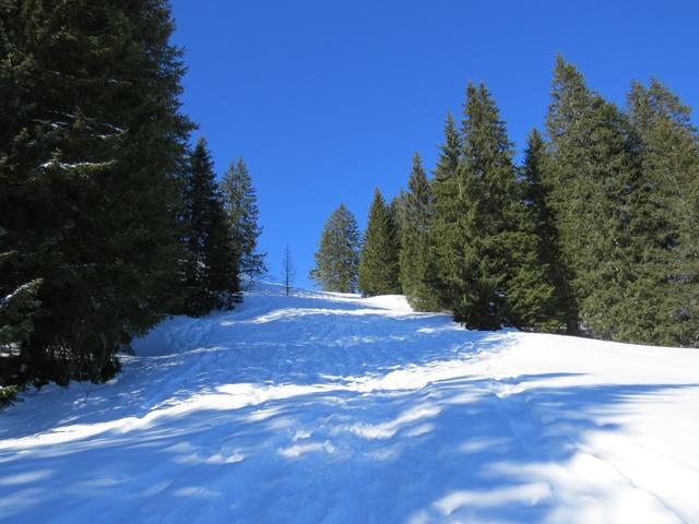
<svg viewBox="0 0 699 524"><path fill-rule="evenodd" d="M369 209L367 230L359 259L358 287L363 295L396 295L399 282L399 238L391 210L377 189Z"/></svg>

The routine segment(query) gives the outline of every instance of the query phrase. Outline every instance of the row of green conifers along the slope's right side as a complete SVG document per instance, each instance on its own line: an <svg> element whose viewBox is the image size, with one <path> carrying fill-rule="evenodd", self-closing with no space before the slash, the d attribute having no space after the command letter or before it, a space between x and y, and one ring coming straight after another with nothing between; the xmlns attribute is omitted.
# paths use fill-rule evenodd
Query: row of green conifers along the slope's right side
<svg viewBox="0 0 699 524"><path fill-rule="evenodd" d="M328 290L402 291L473 329L699 344L699 135L656 80L625 109L557 57L546 133L517 166L483 84L461 126L447 116L428 179L418 155L407 191L376 196L362 239L341 206L311 272Z"/></svg>

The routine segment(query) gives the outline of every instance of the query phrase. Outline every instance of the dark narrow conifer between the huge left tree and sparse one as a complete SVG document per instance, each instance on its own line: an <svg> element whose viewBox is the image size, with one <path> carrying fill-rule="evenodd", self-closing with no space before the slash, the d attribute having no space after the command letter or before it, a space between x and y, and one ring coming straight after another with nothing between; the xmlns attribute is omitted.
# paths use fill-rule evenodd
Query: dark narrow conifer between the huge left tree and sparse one
<svg viewBox="0 0 699 524"><path fill-rule="evenodd" d="M204 139L192 152L183 200L185 312L199 317L212 309L232 309L240 299L239 250Z"/></svg>

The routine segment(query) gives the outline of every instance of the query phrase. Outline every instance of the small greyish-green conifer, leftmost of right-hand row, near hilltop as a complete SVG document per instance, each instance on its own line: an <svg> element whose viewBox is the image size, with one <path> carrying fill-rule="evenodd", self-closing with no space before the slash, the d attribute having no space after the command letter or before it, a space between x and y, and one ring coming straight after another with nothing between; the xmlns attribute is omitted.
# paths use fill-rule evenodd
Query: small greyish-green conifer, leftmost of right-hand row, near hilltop
<svg viewBox="0 0 699 524"><path fill-rule="evenodd" d="M325 291L354 293L362 238L354 215L341 204L323 226L309 276Z"/></svg>

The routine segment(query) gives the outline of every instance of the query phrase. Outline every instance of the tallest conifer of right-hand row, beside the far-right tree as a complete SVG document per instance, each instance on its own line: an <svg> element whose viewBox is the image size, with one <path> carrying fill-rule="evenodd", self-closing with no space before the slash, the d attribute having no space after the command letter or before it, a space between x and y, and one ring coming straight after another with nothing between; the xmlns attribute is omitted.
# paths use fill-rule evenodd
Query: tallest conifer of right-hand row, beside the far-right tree
<svg viewBox="0 0 699 524"><path fill-rule="evenodd" d="M639 235L645 229L640 212L645 204L628 121L557 57L546 126L552 145L547 183L562 274L573 298L569 331L579 315L595 336L640 342L652 319L639 315L639 305L649 299L649 283L637 271L645 242Z"/></svg>

